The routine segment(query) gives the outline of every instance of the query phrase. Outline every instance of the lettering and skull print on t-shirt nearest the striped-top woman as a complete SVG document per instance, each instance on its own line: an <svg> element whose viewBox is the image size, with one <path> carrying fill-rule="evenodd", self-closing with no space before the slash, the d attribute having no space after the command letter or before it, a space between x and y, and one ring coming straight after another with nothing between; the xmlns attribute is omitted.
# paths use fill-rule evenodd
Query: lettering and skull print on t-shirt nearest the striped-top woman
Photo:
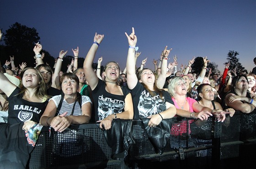
<svg viewBox="0 0 256 169"><path fill-rule="evenodd" d="M98 116L99 120L103 120L113 113L121 113L124 108L122 100L112 99L109 97L99 96Z"/></svg>

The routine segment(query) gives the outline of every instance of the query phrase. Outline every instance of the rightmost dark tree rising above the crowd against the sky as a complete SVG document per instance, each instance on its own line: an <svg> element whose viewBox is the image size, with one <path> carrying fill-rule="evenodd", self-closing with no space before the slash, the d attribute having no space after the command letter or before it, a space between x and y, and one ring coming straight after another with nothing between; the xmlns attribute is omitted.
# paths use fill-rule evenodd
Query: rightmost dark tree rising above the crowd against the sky
<svg viewBox="0 0 256 169"><path fill-rule="evenodd" d="M237 58L237 55L239 55L237 51L229 51L227 56L228 61L225 62L224 65L229 62L229 70L236 69L236 74L248 73L245 67L243 67L242 64L239 62L239 58Z"/></svg>

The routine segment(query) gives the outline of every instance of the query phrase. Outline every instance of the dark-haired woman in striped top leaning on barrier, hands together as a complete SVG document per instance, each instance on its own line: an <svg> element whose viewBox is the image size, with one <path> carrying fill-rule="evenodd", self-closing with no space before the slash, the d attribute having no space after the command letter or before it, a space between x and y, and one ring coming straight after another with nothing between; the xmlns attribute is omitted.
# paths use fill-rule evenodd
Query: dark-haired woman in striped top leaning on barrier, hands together
<svg viewBox="0 0 256 169"><path fill-rule="evenodd" d="M77 92L79 79L74 73L64 73L60 77L63 94L53 96L40 119L44 126L63 132L71 124L89 123L91 118L91 99ZM61 104L61 108L58 108ZM58 115L58 116L56 116Z"/></svg>

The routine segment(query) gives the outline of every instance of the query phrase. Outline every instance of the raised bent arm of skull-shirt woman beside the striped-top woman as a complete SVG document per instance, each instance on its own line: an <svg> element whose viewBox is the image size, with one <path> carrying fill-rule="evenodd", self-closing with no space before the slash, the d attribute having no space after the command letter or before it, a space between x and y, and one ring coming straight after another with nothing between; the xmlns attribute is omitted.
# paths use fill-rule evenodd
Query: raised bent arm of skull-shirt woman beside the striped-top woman
<svg viewBox="0 0 256 169"><path fill-rule="evenodd" d="M92 68L92 62L94 60L96 51L98 50L98 47L100 46L103 38L104 38L104 35L97 35L97 32L95 33L94 42L90 50L88 51L84 61L85 77L92 90L95 89L99 81L99 78L97 77L96 73Z"/></svg>

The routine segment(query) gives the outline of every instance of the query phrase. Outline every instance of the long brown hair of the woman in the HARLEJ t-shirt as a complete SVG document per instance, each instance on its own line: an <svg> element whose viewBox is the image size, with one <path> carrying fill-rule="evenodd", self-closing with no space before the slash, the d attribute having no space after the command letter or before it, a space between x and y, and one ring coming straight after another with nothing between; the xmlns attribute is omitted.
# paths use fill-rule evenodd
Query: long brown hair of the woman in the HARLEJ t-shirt
<svg viewBox="0 0 256 169"><path fill-rule="evenodd" d="M46 86L45 86L45 82L43 80L43 76L41 75L41 73L34 67L25 67L22 71L21 71L21 85L20 85L20 88L21 88L21 92L19 94L24 94L27 90L26 87L23 86L23 83L22 83L22 78L23 78L23 75L24 73L28 70L28 69L33 69L36 71L36 74L37 74L37 77L39 78L39 84L37 86L37 89L36 89L36 92L34 93L35 96L37 98L44 98L45 96L48 97L48 95L46 94Z"/></svg>

